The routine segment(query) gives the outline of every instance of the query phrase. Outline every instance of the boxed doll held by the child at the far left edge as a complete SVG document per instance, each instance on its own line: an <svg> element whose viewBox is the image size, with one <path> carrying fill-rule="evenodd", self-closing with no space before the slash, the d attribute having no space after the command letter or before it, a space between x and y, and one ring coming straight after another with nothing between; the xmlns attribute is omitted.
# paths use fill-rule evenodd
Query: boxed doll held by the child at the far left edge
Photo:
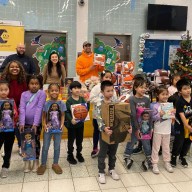
<svg viewBox="0 0 192 192"><path fill-rule="evenodd" d="M0 101L0 132L14 132L14 101Z"/></svg>

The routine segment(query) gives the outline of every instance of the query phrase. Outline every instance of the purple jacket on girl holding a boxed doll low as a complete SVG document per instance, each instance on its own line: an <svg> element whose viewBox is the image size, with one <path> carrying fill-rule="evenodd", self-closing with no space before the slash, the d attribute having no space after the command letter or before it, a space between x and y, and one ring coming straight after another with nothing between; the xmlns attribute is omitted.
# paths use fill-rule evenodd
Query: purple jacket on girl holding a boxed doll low
<svg viewBox="0 0 192 192"><path fill-rule="evenodd" d="M25 91L21 95L19 125L38 126L41 123L46 94L43 90L39 90L34 97L33 95L34 93L30 91Z"/></svg>

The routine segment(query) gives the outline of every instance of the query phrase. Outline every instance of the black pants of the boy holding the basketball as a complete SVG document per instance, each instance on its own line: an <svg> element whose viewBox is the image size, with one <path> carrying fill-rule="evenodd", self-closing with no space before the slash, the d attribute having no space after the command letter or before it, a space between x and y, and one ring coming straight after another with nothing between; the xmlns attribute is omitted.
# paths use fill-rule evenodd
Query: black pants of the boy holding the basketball
<svg viewBox="0 0 192 192"><path fill-rule="evenodd" d="M83 132L84 132L84 126L78 127L78 128L68 128L68 154L72 155L74 147L74 141L76 140L76 146L77 146L77 154L81 153L82 151L82 143L83 143Z"/></svg>

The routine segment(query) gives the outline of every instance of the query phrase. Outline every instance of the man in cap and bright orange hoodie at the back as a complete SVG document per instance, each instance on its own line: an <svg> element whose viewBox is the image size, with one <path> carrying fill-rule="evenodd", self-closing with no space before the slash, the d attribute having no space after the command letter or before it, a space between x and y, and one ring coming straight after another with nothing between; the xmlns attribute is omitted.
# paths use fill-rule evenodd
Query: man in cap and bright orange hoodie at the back
<svg viewBox="0 0 192 192"><path fill-rule="evenodd" d="M85 41L83 43L82 55L76 61L76 72L81 82L85 82L91 76L98 76L98 73L104 70L103 66L94 65L93 59L94 53L91 51L91 43Z"/></svg>

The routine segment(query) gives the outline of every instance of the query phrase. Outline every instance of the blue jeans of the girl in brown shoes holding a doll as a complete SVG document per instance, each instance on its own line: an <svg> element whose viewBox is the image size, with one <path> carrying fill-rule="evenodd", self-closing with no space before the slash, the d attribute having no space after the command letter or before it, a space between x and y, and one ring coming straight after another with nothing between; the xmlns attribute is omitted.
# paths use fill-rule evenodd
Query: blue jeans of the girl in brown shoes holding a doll
<svg viewBox="0 0 192 192"><path fill-rule="evenodd" d="M62 133L47 133L47 132L44 132L42 158L41 158L41 164L42 165L46 165L46 163L47 163L47 155L48 155L49 146L50 146L52 136L54 137L54 159L53 159L53 164L58 164L59 155L60 155L60 144L61 144Z"/></svg>

